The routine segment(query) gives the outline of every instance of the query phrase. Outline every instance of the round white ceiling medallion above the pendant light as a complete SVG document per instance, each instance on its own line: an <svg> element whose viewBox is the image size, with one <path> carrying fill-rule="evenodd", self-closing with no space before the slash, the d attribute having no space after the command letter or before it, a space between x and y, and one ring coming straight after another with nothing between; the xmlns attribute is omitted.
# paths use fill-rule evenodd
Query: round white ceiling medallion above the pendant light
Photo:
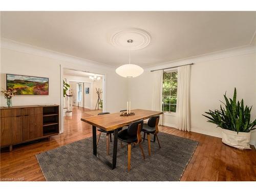
<svg viewBox="0 0 256 192"><path fill-rule="evenodd" d="M127 45L127 39L133 39L132 45ZM111 38L111 44L119 49L139 50L150 44L151 35L139 28L126 28L115 33Z"/></svg>

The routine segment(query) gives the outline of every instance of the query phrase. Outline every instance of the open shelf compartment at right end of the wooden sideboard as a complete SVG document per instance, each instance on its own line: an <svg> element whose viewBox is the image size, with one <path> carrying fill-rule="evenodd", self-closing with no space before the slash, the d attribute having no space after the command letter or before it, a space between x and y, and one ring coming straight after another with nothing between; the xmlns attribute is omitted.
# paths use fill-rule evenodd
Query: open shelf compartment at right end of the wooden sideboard
<svg viewBox="0 0 256 192"><path fill-rule="evenodd" d="M42 131L44 136L59 133L59 106L49 105L42 108Z"/></svg>

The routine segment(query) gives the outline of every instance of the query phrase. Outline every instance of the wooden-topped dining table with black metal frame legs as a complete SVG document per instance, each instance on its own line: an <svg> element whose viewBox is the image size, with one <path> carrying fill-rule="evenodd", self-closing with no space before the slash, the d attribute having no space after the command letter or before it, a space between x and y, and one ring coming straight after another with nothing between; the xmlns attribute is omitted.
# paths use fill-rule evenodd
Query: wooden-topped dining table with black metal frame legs
<svg viewBox="0 0 256 192"><path fill-rule="evenodd" d="M155 115L163 114L163 112L142 110L142 109L131 110L131 112L134 113L134 115L120 116L121 112L118 112L118 113L81 118L82 121L92 125L93 155L97 157L99 160L101 160L102 162L104 162L106 165L111 167L112 169L116 168L118 129L123 126L127 126L134 121L137 121L140 119L148 119ZM114 131L114 144L113 144L114 146L113 146L112 162L108 161L105 157L97 153L96 127L104 131Z"/></svg>

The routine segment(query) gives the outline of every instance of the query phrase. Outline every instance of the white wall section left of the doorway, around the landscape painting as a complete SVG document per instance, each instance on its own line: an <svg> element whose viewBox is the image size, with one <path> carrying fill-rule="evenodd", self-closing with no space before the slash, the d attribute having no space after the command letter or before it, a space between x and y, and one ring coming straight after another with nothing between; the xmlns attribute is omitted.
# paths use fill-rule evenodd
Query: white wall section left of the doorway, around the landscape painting
<svg viewBox="0 0 256 192"><path fill-rule="evenodd" d="M49 95L16 95L12 99L13 105L29 104L59 104L60 103L60 66L59 62L46 57L20 53L1 49L1 88L6 89L6 73L48 77ZM6 99L1 94L1 106L5 106Z"/></svg>

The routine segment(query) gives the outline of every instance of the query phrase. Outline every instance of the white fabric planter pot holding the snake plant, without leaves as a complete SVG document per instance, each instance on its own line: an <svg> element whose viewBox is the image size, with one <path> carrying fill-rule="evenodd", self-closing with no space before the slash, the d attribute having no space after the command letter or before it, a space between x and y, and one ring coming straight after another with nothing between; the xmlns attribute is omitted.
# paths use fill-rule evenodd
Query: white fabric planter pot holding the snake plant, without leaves
<svg viewBox="0 0 256 192"><path fill-rule="evenodd" d="M240 150L251 150L249 142L250 142L251 133L244 132L234 132L230 130L222 129L222 142L232 146L239 148Z"/></svg>

